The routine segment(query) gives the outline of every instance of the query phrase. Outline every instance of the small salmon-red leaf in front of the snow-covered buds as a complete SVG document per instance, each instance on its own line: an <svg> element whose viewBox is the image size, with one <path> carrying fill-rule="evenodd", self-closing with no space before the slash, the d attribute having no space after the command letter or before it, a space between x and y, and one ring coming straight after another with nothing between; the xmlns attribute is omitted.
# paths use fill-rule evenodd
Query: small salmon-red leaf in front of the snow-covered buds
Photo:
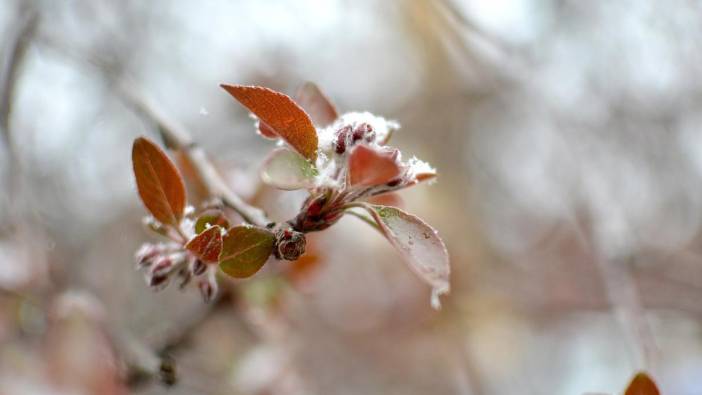
<svg viewBox="0 0 702 395"><path fill-rule="evenodd" d="M394 153L358 145L349 156L349 177L353 185L382 185L400 176Z"/></svg>

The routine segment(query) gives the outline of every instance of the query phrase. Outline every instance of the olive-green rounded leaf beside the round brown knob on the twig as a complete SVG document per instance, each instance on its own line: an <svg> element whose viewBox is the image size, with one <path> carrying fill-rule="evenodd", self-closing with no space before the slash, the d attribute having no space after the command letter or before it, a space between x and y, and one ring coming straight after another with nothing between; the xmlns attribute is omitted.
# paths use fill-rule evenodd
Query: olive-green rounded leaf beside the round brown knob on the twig
<svg viewBox="0 0 702 395"><path fill-rule="evenodd" d="M235 278L253 276L273 252L275 235L249 225L235 226L224 236L219 267Z"/></svg>

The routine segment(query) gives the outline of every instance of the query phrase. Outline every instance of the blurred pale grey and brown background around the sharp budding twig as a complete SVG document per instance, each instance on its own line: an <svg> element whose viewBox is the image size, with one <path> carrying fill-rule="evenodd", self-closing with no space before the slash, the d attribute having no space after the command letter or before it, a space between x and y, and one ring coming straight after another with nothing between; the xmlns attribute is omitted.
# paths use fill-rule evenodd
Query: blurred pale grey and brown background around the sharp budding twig
<svg viewBox="0 0 702 395"><path fill-rule="evenodd" d="M702 394L700 37L689 0L3 0L0 394ZM122 87L286 218L218 85L308 80L438 169L402 197L441 311L352 217L214 305L134 270Z"/></svg>

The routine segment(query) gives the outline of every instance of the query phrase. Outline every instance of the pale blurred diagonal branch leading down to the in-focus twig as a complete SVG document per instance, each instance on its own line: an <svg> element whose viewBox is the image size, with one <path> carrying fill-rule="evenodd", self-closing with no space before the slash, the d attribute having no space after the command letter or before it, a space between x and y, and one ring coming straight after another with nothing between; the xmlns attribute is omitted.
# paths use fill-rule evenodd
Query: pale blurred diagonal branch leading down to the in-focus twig
<svg viewBox="0 0 702 395"><path fill-rule="evenodd" d="M224 205L236 211L244 221L250 224L265 227L272 222L263 210L247 204L227 187L207 157L207 153L192 140L190 133L185 128L169 121L153 103L138 95L135 89L124 87L121 92L127 104L158 126L166 147L181 151L188 158L197 172L199 181L207 188L212 197L220 199Z"/></svg>

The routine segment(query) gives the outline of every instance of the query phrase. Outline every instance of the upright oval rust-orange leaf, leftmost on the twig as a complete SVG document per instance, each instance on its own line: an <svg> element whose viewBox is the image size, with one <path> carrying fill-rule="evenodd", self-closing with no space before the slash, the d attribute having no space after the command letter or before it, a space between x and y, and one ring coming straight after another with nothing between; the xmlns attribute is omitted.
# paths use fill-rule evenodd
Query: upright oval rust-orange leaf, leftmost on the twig
<svg viewBox="0 0 702 395"><path fill-rule="evenodd" d="M177 226L185 209L185 185L175 165L156 144L139 137L132 165L144 206L163 224Z"/></svg>

